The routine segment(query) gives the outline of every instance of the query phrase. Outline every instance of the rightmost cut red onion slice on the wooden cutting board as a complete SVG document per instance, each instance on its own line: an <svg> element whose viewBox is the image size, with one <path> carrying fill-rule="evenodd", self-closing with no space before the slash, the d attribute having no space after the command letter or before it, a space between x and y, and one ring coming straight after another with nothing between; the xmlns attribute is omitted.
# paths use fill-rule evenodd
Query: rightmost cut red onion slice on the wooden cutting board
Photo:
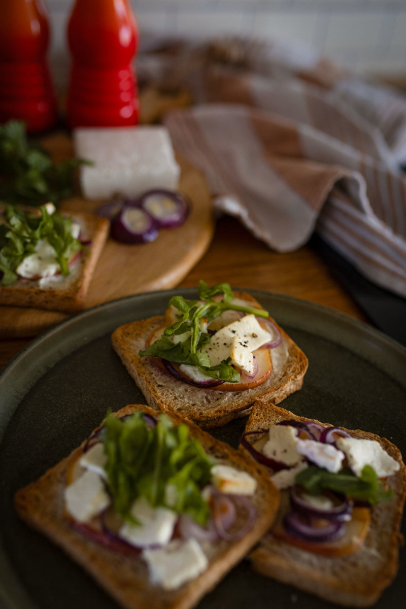
<svg viewBox="0 0 406 609"><path fill-rule="evenodd" d="M156 189L145 192L138 204L159 228L175 228L183 224L189 213L189 200L181 192Z"/></svg>

